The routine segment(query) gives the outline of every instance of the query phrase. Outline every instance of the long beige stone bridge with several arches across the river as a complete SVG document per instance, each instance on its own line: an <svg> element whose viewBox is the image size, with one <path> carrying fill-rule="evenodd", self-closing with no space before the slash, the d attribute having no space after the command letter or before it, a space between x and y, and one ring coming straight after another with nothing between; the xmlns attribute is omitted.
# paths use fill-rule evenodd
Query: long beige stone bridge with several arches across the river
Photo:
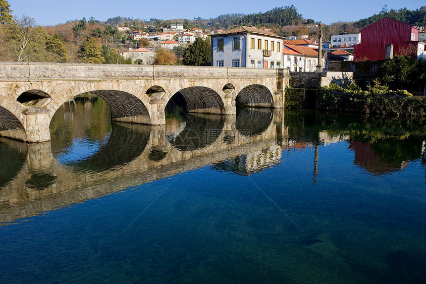
<svg viewBox="0 0 426 284"><path fill-rule="evenodd" d="M0 63L0 136L50 140L59 107L91 92L103 98L114 121L165 123L176 93L188 112L236 114L236 106L282 108L288 70L164 65Z"/></svg>

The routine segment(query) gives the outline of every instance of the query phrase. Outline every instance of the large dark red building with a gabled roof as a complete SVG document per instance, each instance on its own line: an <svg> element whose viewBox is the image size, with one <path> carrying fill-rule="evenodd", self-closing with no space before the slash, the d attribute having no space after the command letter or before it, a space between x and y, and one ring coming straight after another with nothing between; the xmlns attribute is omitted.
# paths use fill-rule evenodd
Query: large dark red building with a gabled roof
<svg viewBox="0 0 426 284"><path fill-rule="evenodd" d="M361 43L354 46L356 61L384 60L395 55L421 57L425 44L417 40L420 28L383 18L360 30Z"/></svg>

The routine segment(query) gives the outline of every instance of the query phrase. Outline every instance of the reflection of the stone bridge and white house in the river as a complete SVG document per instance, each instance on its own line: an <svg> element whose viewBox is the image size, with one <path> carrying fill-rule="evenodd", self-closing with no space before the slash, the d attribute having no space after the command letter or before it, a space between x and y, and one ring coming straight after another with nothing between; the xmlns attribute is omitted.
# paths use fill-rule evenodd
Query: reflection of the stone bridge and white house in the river
<svg viewBox="0 0 426 284"><path fill-rule="evenodd" d="M282 137L277 135L285 131L280 110L244 109L236 116L187 114L180 120L167 119L165 125L106 127L108 109L101 108L96 110L101 117L89 111L85 115L91 117L78 118L83 126L70 126L82 115L74 103L99 107L96 98L65 104L57 114L65 119L51 124L51 142L0 140L1 156L10 157L0 170L1 223L206 165L250 174L281 158Z"/></svg>

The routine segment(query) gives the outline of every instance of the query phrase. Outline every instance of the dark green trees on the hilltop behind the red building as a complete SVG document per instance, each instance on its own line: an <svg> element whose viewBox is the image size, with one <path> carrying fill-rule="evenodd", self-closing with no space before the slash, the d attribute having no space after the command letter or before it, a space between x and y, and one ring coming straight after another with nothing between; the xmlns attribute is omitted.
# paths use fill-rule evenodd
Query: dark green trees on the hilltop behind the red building
<svg viewBox="0 0 426 284"><path fill-rule="evenodd" d="M426 26L426 6L421 7L416 10L408 10L407 8L394 10L391 9L387 11L385 7L378 14L374 14L373 16L359 20L359 27L363 29L378 20L381 20L384 17L389 17L394 20L398 20L410 25L415 26Z"/></svg>

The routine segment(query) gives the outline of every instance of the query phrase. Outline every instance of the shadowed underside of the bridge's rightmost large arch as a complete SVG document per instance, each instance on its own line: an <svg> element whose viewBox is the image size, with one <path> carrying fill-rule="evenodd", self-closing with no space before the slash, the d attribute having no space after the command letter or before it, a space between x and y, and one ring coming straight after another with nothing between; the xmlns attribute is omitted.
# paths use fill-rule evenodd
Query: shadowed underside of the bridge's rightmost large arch
<svg viewBox="0 0 426 284"><path fill-rule="evenodd" d="M260 84L253 84L242 88L235 97L237 107L273 107L271 91Z"/></svg>

